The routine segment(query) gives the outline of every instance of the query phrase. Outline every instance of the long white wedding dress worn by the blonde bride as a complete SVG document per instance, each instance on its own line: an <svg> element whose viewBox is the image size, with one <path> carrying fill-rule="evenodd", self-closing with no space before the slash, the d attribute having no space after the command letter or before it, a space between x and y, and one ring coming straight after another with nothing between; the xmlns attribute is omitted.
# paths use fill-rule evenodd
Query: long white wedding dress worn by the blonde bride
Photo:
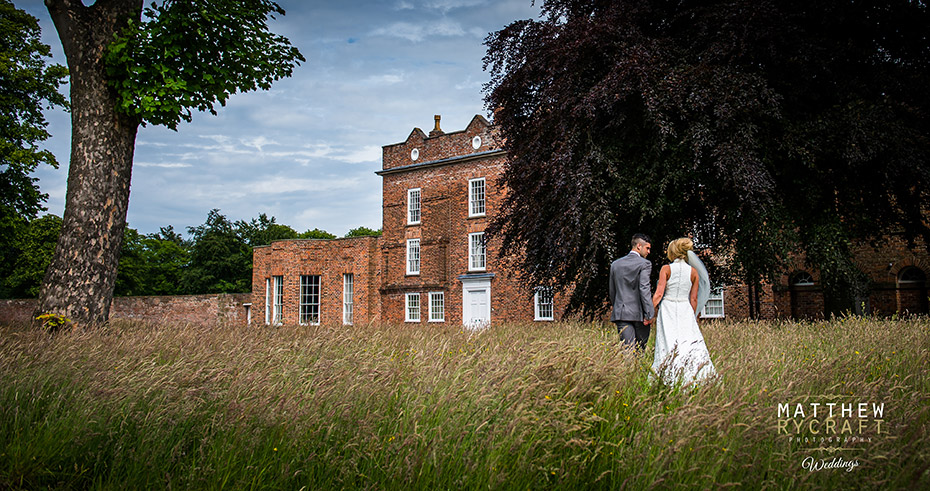
<svg viewBox="0 0 930 491"><path fill-rule="evenodd" d="M656 319L656 353L652 370L668 384L700 382L716 375L704 336L691 308L691 266L671 265Z"/></svg>

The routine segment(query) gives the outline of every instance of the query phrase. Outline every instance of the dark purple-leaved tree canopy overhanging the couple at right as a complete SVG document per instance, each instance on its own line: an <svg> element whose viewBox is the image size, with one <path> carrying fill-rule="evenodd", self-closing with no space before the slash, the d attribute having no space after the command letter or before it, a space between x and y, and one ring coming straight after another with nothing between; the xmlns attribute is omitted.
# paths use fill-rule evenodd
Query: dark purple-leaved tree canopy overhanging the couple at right
<svg viewBox="0 0 930 491"><path fill-rule="evenodd" d="M603 308L635 232L694 234L743 281L802 250L866 286L857 237L930 244L925 2L545 0L492 33L510 188L492 224L529 284ZM653 256L655 257L655 256ZM656 268L657 269L657 268Z"/></svg>

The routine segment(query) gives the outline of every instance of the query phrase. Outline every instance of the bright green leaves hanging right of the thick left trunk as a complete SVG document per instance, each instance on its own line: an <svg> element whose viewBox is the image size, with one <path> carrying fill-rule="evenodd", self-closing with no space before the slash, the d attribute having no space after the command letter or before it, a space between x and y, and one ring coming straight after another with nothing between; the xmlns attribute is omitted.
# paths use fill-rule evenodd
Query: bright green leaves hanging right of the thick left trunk
<svg viewBox="0 0 930 491"><path fill-rule="evenodd" d="M236 92L268 90L303 55L268 29L284 15L270 0L166 0L143 11L106 48L123 111L177 129L191 109L216 114ZM248 42L243 42L247 40Z"/></svg>

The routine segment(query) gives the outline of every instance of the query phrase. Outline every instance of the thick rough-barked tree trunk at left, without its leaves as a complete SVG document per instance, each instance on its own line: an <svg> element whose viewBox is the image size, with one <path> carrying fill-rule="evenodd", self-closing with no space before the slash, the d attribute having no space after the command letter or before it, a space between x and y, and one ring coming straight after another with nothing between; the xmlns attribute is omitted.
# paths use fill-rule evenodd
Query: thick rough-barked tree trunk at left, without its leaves
<svg viewBox="0 0 930 491"><path fill-rule="evenodd" d="M106 44L142 0L46 0L71 72L71 163L61 235L37 314L99 325L110 315L139 121L117 111L107 86Z"/></svg>

